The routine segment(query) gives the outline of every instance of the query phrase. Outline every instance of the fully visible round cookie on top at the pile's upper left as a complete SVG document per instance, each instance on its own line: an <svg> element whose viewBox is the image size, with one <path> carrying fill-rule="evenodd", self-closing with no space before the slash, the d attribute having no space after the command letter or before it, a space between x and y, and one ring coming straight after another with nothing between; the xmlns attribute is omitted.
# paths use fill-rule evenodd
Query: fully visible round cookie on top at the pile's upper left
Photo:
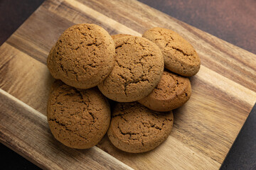
<svg viewBox="0 0 256 170"><path fill-rule="evenodd" d="M64 31L48 55L55 79L79 89L97 86L114 67L114 42L95 24L77 24Z"/></svg>

